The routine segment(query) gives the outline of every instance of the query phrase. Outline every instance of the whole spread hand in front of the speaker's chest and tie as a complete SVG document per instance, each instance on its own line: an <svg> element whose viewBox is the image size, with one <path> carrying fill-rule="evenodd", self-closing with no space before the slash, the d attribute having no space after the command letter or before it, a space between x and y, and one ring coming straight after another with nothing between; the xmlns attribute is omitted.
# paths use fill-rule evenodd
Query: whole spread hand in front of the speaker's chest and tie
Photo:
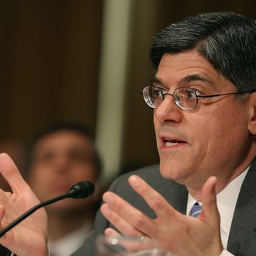
<svg viewBox="0 0 256 256"><path fill-rule="evenodd" d="M198 218L178 213L158 192L136 175L129 178L132 188L156 213L156 218L135 209L112 192L103 195L102 214L129 236L147 236L154 247L178 256L220 255L220 215L216 206L216 178L209 178L202 188L202 213ZM106 234L116 231L107 229Z"/></svg>

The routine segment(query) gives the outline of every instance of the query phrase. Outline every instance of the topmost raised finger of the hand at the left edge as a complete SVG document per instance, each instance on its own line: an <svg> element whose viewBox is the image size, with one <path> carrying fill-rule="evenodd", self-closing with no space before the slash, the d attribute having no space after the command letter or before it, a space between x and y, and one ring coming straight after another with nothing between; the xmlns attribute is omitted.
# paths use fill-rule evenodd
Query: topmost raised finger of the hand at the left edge
<svg viewBox="0 0 256 256"><path fill-rule="evenodd" d="M22 175L19 173L16 164L14 164L8 154L0 154L0 172L11 186L12 192L22 194L24 188L28 187Z"/></svg>

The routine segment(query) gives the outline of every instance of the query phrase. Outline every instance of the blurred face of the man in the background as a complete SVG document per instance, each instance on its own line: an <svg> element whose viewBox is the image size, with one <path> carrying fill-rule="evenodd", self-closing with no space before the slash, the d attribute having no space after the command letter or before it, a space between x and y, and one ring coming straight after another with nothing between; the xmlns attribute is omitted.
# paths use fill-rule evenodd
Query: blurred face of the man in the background
<svg viewBox="0 0 256 256"><path fill-rule="evenodd" d="M50 133L36 143L29 182L40 200L61 195L82 180L93 183L96 180L90 140L80 133L62 130ZM92 197L85 199L85 203L64 199L49 209L85 209L90 202Z"/></svg>

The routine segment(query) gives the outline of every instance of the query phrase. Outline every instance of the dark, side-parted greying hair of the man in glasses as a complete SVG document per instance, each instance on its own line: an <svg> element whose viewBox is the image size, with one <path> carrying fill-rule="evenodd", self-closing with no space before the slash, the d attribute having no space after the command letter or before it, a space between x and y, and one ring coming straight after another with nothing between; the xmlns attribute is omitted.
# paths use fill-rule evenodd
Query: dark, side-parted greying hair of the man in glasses
<svg viewBox="0 0 256 256"><path fill-rule="evenodd" d="M237 92L256 89L256 22L233 12L189 16L162 29L150 44L157 69L165 53L198 50Z"/></svg>

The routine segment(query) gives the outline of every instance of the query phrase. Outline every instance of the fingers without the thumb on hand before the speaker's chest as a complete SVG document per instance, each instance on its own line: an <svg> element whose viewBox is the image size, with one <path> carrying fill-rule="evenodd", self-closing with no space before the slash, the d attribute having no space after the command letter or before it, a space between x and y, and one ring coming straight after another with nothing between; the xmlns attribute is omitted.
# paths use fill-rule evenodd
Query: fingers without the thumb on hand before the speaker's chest
<svg viewBox="0 0 256 256"><path fill-rule="evenodd" d="M182 214L178 213L170 204L154 189L147 185L147 182L137 175L129 178L132 188L147 202L148 206L154 210L156 219L135 209L130 203L126 202L112 192L103 195L106 202L101 208L102 214L123 234L140 236L146 234L151 237L157 234L158 227L181 220ZM177 226L177 225L176 225ZM175 227L175 226L174 226Z"/></svg>

